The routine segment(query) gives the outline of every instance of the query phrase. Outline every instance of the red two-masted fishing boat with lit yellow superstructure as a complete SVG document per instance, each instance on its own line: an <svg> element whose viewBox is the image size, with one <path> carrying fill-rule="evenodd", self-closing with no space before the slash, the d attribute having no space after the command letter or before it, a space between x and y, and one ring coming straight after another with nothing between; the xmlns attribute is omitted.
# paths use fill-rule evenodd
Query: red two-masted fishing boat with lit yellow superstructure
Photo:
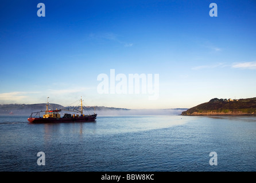
<svg viewBox="0 0 256 183"><path fill-rule="evenodd" d="M49 98L49 97L48 97ZM60 116L61 110L64 109L56 109L56 110L51 110L48 109L48 98L47 98L47 103L46 103L46 110L45 114L40 117L40 112L33 112L31 113L30 117L28 118L28 121L32 124L49 124L49 123L60 123L60 122L94 122L96 120L97 114L94 112L94 114L83 114L83 100L81 97L81 110L73 109L73 110L67 110L69 112L76 112L80 113L79 114L68 114L65 113L63 117ZM76 110L76 111L75 111Z"/></svg>

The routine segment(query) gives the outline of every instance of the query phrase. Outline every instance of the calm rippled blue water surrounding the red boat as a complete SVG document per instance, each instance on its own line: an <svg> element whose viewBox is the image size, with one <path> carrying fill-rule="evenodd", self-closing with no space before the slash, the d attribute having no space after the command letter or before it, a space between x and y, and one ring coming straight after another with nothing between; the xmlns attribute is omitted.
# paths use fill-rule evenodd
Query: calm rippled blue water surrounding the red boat
<svg viewBox="0 0 256 183"><path fill-rule="evenodd" d="M117 116L28 124L0 117L0 171L255 171L256 117ZM45 153L45 166L37 153ZM218 165L210 165L216 152Z"/></svg>

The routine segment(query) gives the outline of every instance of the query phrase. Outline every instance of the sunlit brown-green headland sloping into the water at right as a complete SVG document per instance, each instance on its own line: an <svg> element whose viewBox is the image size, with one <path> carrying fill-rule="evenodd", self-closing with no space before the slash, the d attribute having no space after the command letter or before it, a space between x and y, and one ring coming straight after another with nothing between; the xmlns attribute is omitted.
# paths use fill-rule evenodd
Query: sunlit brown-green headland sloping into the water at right
<svg viewBox="0 0 256 183"><path fill-rule="evenodd" d="M256 115L256 97L239 100L213 98L181 113L183 116Z"/></svg>

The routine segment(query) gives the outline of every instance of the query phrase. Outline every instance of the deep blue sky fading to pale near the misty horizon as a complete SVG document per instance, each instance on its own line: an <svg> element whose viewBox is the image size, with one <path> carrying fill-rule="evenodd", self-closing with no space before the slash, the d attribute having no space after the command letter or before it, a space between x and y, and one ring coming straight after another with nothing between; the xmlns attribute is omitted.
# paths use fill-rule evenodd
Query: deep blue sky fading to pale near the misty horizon
<svg viewBox="0 0 256 183"><path fill-rule="evenodd" d="M0 104L82 96L88 106L170 109L256 97L255 30L255 0L2 0Z"/></svg>

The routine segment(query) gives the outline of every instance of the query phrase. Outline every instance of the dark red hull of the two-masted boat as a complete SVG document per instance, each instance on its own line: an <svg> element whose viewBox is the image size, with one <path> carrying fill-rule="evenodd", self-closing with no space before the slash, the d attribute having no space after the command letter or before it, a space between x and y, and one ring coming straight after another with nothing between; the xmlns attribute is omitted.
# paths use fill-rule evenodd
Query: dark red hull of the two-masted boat
<svg viewBox="0 0 256 183"><path fill-rule="evenodd" d="M60 122L93 122L96 120L97 114L72 117L72 118L28 118L28 121L32 124L49 124L49 123L60 123Z"/></svg>

